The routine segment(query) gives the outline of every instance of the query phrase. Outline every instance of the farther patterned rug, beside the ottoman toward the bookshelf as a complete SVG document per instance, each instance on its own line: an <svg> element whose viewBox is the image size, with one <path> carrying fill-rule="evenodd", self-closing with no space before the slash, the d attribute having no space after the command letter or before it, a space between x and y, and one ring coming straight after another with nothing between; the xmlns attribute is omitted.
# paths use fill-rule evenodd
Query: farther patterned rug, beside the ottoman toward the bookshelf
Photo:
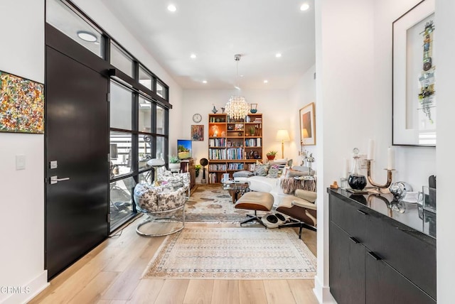
<svg viewBox="0 0 455 304"><path fill-rule="evenodd" d="M221 185L197 185L186 202L187 222L242 222L250 210L235 209L228 190Z"/></svg>

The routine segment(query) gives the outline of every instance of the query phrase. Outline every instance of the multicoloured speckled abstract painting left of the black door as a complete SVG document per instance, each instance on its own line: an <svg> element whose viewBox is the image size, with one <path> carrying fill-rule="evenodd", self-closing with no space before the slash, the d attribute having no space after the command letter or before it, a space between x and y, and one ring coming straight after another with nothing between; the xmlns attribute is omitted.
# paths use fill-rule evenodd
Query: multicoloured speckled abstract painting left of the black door
<svg viewBox="0 0 455 304"><path fill-rule="evenodd" d="M44 85L0 71L0 132L44 133Z"/></svg>

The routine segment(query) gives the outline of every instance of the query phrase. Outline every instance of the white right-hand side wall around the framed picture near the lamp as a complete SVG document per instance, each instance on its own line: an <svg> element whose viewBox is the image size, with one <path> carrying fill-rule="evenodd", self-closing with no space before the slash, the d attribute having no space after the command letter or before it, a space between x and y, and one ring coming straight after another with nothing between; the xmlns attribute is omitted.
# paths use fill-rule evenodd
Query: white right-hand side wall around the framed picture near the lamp
<svg viewBox="0 0 455 304"><path fill-rule="evenodd" d="M294 116L291 118L291 129L294 134L292 139L295 143L296 151L300 151L300 118L299 110L311 102L315 103L315 113L318 112L318 104L316 104L316 80L314 79L314 74L316 72L316 65L310 67L305 74L300 77L299 81L289 89L289 105L291 107L290 111L294 113ZM318 144L319 134L316 132L316 145ZM319 157L316 155L316 146L304 146L304 149L308 153L313 153L315 162L313 163L313 168L316 168ZM296 156L294 158L294 165L299 165L302 158L301 156Z"/></svg>

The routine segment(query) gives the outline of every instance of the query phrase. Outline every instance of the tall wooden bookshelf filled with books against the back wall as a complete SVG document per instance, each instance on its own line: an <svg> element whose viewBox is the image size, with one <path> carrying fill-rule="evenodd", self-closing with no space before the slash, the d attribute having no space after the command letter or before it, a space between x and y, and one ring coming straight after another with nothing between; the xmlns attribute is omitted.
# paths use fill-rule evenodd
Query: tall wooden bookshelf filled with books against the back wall
<svg viewBox="0 0 455 304"><path fill-rule="evenodd" d="M208 183L220 183L223 173L255 170L262 160L262 114L230 119L208 114Z"/></svg>

